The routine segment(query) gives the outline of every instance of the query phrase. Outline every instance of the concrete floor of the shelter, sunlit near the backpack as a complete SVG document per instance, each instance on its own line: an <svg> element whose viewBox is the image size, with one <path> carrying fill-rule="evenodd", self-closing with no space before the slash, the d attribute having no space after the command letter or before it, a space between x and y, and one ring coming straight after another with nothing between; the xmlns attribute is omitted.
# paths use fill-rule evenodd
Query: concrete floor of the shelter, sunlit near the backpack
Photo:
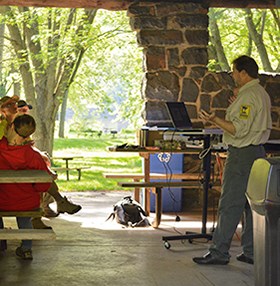
<svg viewBox="0 0 280 286"><path fill-rule="evenodd" d="M57 239L34 241L31 262L16 257L18 241L8 241L8 250L0 256L0 285L254 285L253 266L235 259L241 251L237 236L232 243L231 262L226 266L192 262L193 256L207 251L206 242L171 241L169 250L163 246L163 235L200 231L200 217L182 215L181 222L175 222L174 215L163 215L159 229L123 228L115 222L105 222L112 205L124 195L127 192L68 194L83 209L76 215L45 220L55 230ZM194 219L196 222L192 222ZM11 220L14 219L7 219L6 225L13 224Z"/></svg>

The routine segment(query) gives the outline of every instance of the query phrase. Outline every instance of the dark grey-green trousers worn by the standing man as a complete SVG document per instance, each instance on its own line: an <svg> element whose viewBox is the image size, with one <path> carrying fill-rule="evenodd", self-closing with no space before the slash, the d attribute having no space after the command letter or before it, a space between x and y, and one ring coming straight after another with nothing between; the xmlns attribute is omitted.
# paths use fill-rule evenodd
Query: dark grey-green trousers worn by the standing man
<svg viewBox="0 0 280 286"><path fill-rule="evenodd" d="M245 192L253 162L265 157L263 146L229 147L219 200L218 222L209 250L214 256L230 258L232 237L244 213L241 245L245 255L253 258L252 212Z"/></svg>

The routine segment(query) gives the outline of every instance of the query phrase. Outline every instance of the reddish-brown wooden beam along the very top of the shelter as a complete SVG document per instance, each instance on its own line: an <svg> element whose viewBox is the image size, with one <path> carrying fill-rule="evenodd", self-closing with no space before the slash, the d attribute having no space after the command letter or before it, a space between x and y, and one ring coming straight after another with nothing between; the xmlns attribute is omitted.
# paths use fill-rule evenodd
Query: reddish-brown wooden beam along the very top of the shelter
<svg viewBox="0 0 280 286"><path fill-rule="evenodd" d="M276 0L142 0L142 2L197 2L207 7L220 8L280 8ZM0 0L0 6L93 8L106 10L127 10L134 0Z"/></svg>

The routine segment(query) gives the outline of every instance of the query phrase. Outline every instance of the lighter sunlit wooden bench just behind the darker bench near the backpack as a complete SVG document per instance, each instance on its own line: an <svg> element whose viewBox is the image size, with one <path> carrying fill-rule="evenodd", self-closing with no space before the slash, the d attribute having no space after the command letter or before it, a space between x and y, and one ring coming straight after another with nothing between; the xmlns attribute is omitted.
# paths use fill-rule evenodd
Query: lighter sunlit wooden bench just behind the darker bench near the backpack
<svg viewBox="0 0 280 286"><path fill-rule="evenodd" d="M104 173L104 178L107 179L131 179L134 182L140 182L145 179L145 175L142 173ZM160 174L150 173L150 180L191 180L199 181L200 174L194 173L180 173L180 174ZM135 186L134 188L134 199L140 202L140 188Z"/></svg>

